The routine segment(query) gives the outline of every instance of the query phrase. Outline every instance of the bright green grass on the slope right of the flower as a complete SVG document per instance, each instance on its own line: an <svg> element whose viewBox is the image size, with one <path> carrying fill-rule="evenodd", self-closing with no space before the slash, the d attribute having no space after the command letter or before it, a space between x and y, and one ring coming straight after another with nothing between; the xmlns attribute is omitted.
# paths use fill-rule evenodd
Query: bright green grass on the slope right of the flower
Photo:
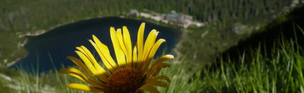
<svg viewBox="0 0 304 93"><path fill-rule="evenodd" d="M295 42L282 40L270 57L258 47L240 55L238 61L219 58L218 66L202 70L181 60L163 71L172 82L162 92L304 93L304 51Z"/></svg>

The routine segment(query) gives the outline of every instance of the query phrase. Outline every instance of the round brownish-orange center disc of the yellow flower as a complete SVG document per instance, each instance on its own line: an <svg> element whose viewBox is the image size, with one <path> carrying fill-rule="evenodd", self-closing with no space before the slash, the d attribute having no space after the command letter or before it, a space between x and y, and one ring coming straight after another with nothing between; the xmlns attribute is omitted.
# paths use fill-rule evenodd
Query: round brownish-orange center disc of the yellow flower
<svg viewBox="0 0 304 93"><path fill-rule="evenodd" d="M106 93L134 93L142 85L143 75L137 69L123 68L108 78Z"/></svg>

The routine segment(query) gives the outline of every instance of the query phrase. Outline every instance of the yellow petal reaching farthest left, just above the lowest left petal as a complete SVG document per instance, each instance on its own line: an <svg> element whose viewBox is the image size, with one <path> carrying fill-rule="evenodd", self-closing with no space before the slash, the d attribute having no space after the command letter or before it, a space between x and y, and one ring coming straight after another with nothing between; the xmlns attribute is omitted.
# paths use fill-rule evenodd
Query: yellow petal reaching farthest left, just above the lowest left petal
<svg viewBox="0 0 304 93"><path fill-rule="evenodd" d="M81 71L75 68L69 68L69 69L60 69L60 73L68 74L71 76L74 76L84 82L87 82L93 86L96 86L100 89L105 89L104 84L99 84L97 82L92 81L91 79L87 78Z"/></svg>

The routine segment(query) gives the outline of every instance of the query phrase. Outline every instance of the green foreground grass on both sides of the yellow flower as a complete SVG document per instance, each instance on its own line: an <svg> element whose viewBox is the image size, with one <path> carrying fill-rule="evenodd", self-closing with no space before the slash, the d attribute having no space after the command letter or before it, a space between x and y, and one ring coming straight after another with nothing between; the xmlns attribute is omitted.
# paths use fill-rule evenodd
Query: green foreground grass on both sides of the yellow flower
<svg viewBox="0 0 304 93"><path fill-rule="evenodd" d="M304 37L302 28L297 29L302 31L297 34L303 34ZM215 60L218 64L206 68L189 60L167 61L171 67L163 69L159 74L171 78L171 83L166 88L159 87L159 90L161 93L303 93L304 49L297 39L281 37L275 42L277 47L266 54L270 56L265 56L262 51L265 46L262 47L261 43L260 47L239 55L238 60L219 57ZM42 92L48 89L48 92L75 93L81 91L66 88L65 84L84 83L57 71L40 73L40 77L34 69L29 74L7 69L0 71L20 82L1 81L0 88L3 92ZM10 84L16 84L23 90L7 88ZM52 88L54 89L51 90Z"/></svg>

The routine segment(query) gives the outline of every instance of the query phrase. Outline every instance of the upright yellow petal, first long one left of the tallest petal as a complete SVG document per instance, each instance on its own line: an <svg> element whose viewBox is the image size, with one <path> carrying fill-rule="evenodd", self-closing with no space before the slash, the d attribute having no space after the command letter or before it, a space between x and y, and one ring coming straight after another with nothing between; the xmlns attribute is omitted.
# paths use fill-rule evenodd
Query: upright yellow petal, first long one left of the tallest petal
<svg viewBox="0 0 304 93"><path fill-rule="evenodd" d="M127 49L127 64L129 67L132 66L132 44L131 44L131 38L129 30L126 26L123 26L123 42Z"/></svg>

